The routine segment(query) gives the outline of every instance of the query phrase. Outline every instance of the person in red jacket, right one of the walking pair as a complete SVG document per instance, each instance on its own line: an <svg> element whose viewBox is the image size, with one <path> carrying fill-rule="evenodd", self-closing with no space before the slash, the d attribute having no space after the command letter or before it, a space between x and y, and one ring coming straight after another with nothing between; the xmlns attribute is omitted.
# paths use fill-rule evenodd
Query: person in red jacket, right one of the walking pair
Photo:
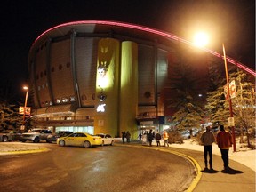
<svg viewBox="0 0 256 192"><path fill-rule="evenodd" d="M224 170L228 170L229 158L228 151L232 147L232 136L229 132L226 132L223 125L220 125L220 132L217 133L217 145L220 148L221 158L224 164Z"/></svg>

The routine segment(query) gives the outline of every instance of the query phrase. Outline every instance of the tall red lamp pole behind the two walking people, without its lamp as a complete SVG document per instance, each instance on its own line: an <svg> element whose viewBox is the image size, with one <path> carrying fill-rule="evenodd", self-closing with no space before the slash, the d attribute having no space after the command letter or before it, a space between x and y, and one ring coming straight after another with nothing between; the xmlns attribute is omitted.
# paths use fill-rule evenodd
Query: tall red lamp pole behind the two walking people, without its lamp
<svg viewBox="0 0 256 192"><path fill-rule="evenodd" d="M228 65L227 65L227 58L226 58L226 51L225 51L224 44L222 44L222 49L223 49L223 57L224 57L223 59L225 64L225 72L226 72L226 80L227 80L227 99L229 104L229 113L230 113L230 118L234 118L233 108L232 108L232 99L230 97L230 91L229 91ZM231 131L232 131L232 140L233 140L233 151L236 152L236 135L235 135L235 127L233 124L231 125Z"/></svg>

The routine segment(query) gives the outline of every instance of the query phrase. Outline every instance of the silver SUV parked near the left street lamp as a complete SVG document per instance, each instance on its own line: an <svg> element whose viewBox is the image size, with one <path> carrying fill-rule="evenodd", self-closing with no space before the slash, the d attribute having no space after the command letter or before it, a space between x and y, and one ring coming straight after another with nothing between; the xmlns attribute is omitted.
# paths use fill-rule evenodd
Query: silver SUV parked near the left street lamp
<svg viewBox="0 0 256 192"><path fill-rule="evenodd" d="M30 132L24 132L21 135L20 140L22 142L26 142L27 140L31 140L35 143L40 142L40 140L46 140L49 135L52 135L51 130L48 129L32 129Z"/></svg>

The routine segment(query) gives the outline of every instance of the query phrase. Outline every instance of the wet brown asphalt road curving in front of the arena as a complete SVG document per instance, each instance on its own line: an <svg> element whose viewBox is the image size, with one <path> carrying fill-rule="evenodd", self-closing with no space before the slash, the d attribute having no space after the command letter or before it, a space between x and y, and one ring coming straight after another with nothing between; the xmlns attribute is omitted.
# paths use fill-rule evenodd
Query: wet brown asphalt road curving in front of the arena
<svg viewBox="0 0 256 192"><path fill-rule="evenodd" d="M183 157L122 145L1 156L1 191L184 191L194 178Z"/></svg>

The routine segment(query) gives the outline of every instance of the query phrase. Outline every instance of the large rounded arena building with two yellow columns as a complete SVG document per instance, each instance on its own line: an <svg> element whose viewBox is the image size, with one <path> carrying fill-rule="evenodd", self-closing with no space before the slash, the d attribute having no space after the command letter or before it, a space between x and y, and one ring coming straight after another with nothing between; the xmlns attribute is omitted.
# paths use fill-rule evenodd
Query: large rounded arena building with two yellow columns
<svg viewBox="0 0 256 192"><path fill-rule="evenodd" d="M50 28L28 55L31 117L53 132L117 137L129 131L136 139L141 130L162 131L172 116L165 105L168 78L180 63L177 55L191 46L156 29L114 21ZM197 50L193 55L197 72L206 78L211 54Z"/></svg>

